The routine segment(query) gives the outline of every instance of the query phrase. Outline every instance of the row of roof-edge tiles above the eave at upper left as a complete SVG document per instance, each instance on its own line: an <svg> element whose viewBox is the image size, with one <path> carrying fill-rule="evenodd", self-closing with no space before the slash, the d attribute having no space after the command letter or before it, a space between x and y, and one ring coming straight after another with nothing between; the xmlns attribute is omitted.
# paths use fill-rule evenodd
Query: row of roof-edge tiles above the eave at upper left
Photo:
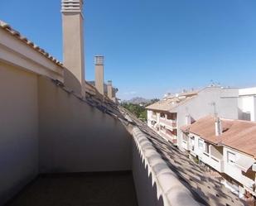
<svg viewBox="0 0 256 206"><path fill-rule="evenodd" d="M53 63L56 65L59 65L60 67L63 67L62 63L59 60L56 60L53 56L51 56L49 53L47 53L45 50L43 50L41 47L36 46L36 44L32 41L29 41L27 37L22 36L20 32L14 30L12 26L8 25L6 22L2 22L0 20L0 28L4 31L7 31L9 34L12 36L15 36L18 40L24 42L27 44L27 46L30 46L33 50L36 50L39 52L41 55L46 56L47 59L51 60Z"/></svg>

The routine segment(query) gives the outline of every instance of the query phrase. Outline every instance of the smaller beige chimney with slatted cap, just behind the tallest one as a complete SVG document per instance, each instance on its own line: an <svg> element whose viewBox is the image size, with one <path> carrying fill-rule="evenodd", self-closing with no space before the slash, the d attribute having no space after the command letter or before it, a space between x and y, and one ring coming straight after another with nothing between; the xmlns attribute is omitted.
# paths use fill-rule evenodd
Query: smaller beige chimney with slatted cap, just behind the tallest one
<svg viewBox="0 0 256 206"><path fill-rule="evenodd" d="M104 56L96 55L95 64L95 87L99 93L104 95Z"/></svg>

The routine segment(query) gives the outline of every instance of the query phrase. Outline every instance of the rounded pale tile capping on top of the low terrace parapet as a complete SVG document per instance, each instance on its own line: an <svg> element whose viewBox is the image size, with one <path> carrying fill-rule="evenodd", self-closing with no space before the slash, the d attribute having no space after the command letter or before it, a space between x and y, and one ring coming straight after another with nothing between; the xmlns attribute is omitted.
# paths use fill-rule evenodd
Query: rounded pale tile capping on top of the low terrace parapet
<svg viewBox="0 0 256 206"><path fill-rule="evenodd" d="M152 185L157 185L157 199L162 197L164 206L200 205L138 127L133 128L133 139L142 161L145 162L147 176L152 175Z"/></svg>

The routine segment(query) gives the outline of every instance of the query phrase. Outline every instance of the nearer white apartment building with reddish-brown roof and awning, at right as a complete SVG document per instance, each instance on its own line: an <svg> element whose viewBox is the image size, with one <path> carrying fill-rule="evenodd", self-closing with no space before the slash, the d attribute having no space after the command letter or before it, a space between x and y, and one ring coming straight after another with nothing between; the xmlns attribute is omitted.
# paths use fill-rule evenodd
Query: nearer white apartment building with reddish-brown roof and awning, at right
<svg viewBox="0 0 256 206"><path fill-rule="evenodd" d="M207 116L181 131L191 156L218 171L240 198L256 197L256 122Z"/></svg>

